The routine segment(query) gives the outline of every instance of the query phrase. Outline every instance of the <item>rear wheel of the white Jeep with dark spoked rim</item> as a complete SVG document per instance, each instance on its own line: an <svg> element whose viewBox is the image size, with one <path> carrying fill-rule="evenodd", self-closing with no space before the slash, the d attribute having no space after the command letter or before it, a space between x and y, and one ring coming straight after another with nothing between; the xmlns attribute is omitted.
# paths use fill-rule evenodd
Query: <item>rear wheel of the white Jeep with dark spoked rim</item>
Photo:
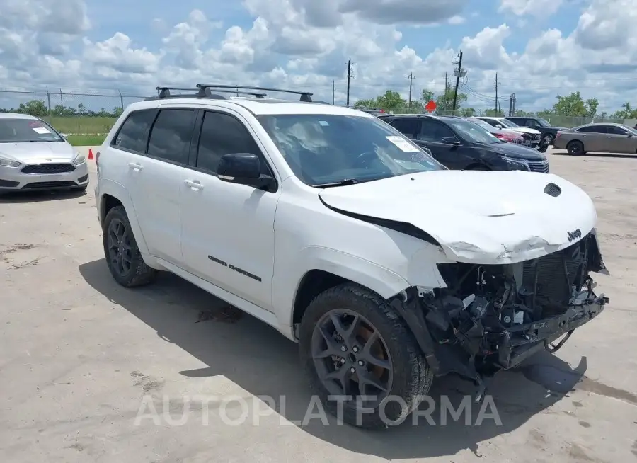
<svg viewBox="0 0 637 463"><path fill-rule="evenodd" d="M146 265L139 252L123 206L108 211L104 219L103 244L108 270L120 285L147 285L156 277L157 270Z"/></svg>

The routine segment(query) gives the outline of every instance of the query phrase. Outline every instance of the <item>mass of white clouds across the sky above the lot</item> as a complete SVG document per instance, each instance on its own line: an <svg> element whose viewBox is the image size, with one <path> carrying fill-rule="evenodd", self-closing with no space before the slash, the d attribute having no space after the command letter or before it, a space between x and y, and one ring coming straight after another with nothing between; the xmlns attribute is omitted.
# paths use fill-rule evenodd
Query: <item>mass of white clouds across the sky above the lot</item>
<svg viewBox="0 0 637 463"><path fill-rule="evenodd" d="M471 30L476 21L475 12L465 11L467 0L430 0L427 8L422 3L244 0L253 17L247 27L194 10L172 23L149 18L153 40L161 38L152 43L118 30L110 38L89 40L96 35L83 0L0 0L0 78L16 87L121 88L137 94L151 93L159 84L204 81L296 86L328 101L335 81L335 98L344 101L351 57L355 101L387 88L406 95L410 73L416 94L422 88L441 91L444 73L452 76L452 62L462 50L467 91L476 107L493 106L476 94L494 96L495 72L500 94L517 93L518 108L548 108L556 93L577 90L599 98L602 109L637 102L630 80L637 69L634 0L588 0L575 30L537 30L518 52L510 48L510 25L500 18L500 25L474 28L459 42L419 54L415 49L421 43L404 43L408 28L437 25L430 30L444 33L450 25ZM560 3L501 0L500 8L515 14L508 17L515 24L537 11L548 15Z"/></svg>

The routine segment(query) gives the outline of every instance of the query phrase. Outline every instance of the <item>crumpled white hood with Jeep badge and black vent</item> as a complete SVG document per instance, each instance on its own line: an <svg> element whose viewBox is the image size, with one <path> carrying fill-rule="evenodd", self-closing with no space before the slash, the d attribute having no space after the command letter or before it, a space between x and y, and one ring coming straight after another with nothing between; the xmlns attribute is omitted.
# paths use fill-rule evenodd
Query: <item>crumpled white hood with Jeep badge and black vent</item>
<svg viewBox="0 0 637 463"><path fill-rule="evenodd" d="M548 183L561 194L544 193ZM447 258L478 264L558 251L597 221L592 200L573 183L523 171L423 172L328 188L320 197L336 210L412 224L430 234Z"/></svg>

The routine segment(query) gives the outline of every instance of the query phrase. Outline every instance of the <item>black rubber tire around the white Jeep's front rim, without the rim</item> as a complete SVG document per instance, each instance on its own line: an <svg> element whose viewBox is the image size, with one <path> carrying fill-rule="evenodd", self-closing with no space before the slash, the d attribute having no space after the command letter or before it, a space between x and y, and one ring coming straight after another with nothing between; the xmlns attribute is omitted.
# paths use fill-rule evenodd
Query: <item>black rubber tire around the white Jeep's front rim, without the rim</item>
<svg viewBox="0 0 637 463"><path fill-rule="evenodd" d="M313 394L319 396L323 408L333 416L342 418L345 423L351 423L363 428L379 428L386 425L399 424L407 418L408 414L417 404L411 403L414 389L414 375L420 375L417 365L414 365L413 350L415 339L404 322L394 313L386 302L380 297L376 300L369 297L360 297L355 292L348 291L348 287L340 287L338 290L328 290L322 293L307 308L299 331L299 355ZM379 305L384 304L384 307ZM392 384L388 394L388 401L384 406L384 414L380 408L375 408L372 413L360 412L347 404L338 404L338 401L330 399L330 392L323 386L319 375L314 367L314 360L311 353L311 338L314 333L314 326L331 309L348 309L354 311L367 319L374 328L379 331L381 338L389 351L392 367ZM389 318L387 316L389 311ZM391 318L393 316L393 318ZM407 338L411 336L411 338ZM417 352L420 355L420 352ZM420 357L421 362L425 360ZM430 371L426 369L427 373ZM417 391L418 395L426 394L427 387L422 391ZM396 400L396 397L402 398ZM340 408L340 410L338 409ZM381 407L382 408L382 407Z"/></svg>

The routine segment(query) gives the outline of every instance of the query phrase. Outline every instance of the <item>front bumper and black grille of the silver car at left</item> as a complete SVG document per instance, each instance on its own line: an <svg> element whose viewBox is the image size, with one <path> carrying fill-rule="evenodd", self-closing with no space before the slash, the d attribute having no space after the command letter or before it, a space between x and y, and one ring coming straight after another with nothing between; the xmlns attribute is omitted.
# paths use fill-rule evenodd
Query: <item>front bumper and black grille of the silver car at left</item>
<svg viewBox="0 0 637 463"><path fill-rule="evenodd" d="M70 172L60 173L24 173L23 168L25 166L0 166L0 191L56 190L88 185L86 162L75 166Z"/></svg>

